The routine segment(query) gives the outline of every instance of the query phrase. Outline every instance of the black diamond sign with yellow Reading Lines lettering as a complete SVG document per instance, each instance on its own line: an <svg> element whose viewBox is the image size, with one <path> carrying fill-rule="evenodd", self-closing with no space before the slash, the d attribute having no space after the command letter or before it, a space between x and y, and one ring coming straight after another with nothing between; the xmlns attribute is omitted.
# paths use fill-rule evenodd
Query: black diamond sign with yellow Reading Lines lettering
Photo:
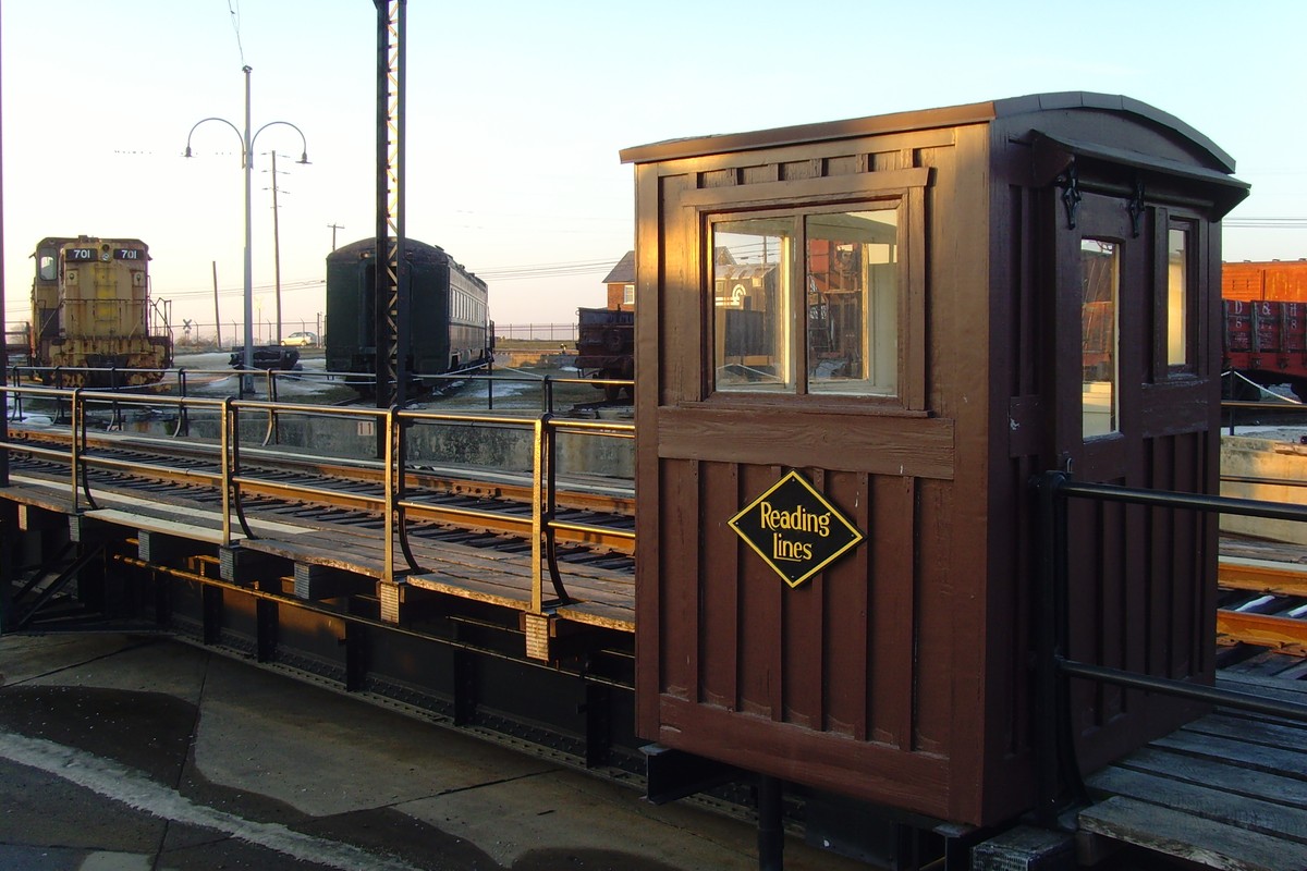
<svg viewBox="0 0 1307 871"><path fill-rule="evenodd" d="M791 471L731 518L786 584L799 586L865 538L808 479Z"/></svg>

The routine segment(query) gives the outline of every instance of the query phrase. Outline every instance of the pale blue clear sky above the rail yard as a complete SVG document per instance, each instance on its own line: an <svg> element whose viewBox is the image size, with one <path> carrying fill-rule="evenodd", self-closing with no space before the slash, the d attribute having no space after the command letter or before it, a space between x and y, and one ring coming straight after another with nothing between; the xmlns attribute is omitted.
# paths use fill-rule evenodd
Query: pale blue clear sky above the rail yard
<svg viewBox="0 0 1307 871"><path fill-rule="evenodd" d="M484 277L501 325L567 324L604 304L604 276L634 247L620 149L1048 91L1124 94L1193 125L1252 184L1226 219L1225 259L1307 257L1300 0L406 10L406 235ZM316 329L333 239L375 235L370 0L0 0L8 323L30 316L35 244L85 234L150 245L154 299L179 330L212 332L216 272L233 332L244 65L255 319L272 332L276 247L282 329Z"/></svg>

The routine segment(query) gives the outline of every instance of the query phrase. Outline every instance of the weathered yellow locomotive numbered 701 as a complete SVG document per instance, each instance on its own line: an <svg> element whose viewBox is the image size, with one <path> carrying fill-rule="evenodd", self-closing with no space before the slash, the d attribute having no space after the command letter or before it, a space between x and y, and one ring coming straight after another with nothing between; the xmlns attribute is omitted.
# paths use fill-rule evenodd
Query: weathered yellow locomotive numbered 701
<svg viewBox="0 0 1307 871"><path fill-rule="evenodd" d="M59 367L65 387L152 384L173 366L166 328L152 329L149 245L50 236L33 257L29 362L41 380Z"/></svg>

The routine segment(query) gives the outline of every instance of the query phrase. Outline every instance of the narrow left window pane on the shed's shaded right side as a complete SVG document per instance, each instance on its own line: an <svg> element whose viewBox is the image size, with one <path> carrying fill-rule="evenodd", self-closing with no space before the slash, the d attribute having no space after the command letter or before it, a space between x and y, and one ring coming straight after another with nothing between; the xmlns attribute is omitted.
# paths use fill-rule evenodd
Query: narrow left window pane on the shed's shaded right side
<svg viewBox="0 0 1307 871"><path fill-rule="evenodd" d="M1116 243L1080 243L1084 437L1116 432L1116 309L1120 251Z"/></svg>

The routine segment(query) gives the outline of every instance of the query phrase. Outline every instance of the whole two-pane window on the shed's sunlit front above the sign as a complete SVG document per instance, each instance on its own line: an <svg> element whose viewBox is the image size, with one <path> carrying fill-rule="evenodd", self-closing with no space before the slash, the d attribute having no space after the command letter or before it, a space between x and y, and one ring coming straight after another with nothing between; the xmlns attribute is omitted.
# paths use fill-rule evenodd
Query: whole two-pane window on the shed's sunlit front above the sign
<svg viewBox="0 0 1307 871"><path fill-rule="evenodd" d="M897 397L899 212L895 200L714 222L715 388Z"/></svg>

